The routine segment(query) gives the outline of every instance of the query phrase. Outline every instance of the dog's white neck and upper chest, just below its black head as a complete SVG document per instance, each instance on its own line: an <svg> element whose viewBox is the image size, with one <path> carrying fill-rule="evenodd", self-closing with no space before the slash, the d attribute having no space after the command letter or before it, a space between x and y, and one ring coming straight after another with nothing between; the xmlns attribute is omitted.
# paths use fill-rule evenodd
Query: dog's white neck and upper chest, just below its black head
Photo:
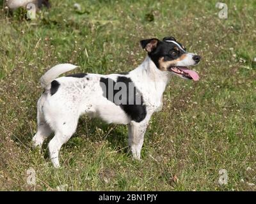
<svg viewBox="0 0 256 204"><path fill-rule="evenodd" d="M130 75L144 97L148 97L150 101L153 100L153 103L155 101L161 103L163 92L171 77L168 71L159 70L147 56L138 68L130 71Z"/></svg>

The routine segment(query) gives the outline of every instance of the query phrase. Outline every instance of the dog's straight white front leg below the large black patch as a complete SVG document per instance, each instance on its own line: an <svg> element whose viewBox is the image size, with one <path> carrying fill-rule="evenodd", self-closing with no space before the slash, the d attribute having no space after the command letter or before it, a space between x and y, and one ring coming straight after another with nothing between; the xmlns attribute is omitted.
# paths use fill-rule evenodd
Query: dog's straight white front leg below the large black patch
<svg viewBox="0 0 256 204"><path fill-rule="evenodd" d="M140 160L141 147L143 145L144 134L148 122L134 122L128 125L129 147L131 148L132 157Z"/></svg>

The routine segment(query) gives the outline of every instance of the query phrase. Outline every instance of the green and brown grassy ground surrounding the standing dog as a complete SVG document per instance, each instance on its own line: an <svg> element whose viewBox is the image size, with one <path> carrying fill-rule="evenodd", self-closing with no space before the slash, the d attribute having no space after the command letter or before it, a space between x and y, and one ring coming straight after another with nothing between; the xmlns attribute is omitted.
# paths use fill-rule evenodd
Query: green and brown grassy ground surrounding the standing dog
<svg viewBox="0 0 256 204"><path fill-rule="evenodd" d="M256 184L256 2L225 2L227 20L218 18L216 1L200 0L52 1L31 21L1 10L0 190L255 190L248 183ZM42 154L31 149L47 69L72 62L80 66L74 73L129 71L145 57L139 41L164 36L202 55L200 81L173 77L141 162L127 153L125 126L85 116L61 149L60 170L47 145ZM218 183L221 169L227 185Z"/></svg>

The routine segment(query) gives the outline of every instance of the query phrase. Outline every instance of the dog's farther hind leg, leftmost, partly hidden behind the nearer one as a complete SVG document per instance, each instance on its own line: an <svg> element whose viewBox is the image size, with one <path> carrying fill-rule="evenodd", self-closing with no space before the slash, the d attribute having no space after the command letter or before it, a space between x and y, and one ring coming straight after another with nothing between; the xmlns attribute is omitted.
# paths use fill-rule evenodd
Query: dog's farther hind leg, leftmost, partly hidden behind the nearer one
<svg viewBox="0 0 256 204"><path fill-rule="evenodd" d="M45 96L43 95L37 103L37 131L35 136L32 139L33 146L39 146L40 149L44 140L51 135L52 129L50 128L49 124L45 121L44 113L42 112L43 103Z"/></svg>

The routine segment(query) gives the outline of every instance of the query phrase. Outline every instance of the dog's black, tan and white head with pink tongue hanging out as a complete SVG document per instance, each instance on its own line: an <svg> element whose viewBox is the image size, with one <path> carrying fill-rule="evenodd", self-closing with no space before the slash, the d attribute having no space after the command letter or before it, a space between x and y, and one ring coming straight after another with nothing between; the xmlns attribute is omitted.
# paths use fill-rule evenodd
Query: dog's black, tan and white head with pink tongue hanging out
<svg viewBox="0 0 256 204"><path fill-rule="evenodd" d="M182 78L199 80L198 74L188 69L199 63L200 55L186 51L186 48L173 37L163 38L163 41L156 38L141 40L141 47L145 49L148 56L161 71L170 71Z"/></svg>

